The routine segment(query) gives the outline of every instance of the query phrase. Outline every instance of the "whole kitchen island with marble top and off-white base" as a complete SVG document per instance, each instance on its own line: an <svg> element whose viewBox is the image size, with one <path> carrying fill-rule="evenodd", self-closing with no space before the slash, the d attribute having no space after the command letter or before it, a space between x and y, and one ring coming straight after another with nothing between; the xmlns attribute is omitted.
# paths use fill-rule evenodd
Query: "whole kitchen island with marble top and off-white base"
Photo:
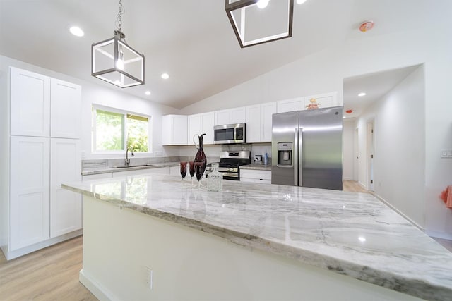
<svg viewBox="0 0 452 301"><path fill-rule="evenodd" d="M64 184L83 194L81 282L109 300L452 296L452 253L372 195L203 185L164 175Z"/></svg>

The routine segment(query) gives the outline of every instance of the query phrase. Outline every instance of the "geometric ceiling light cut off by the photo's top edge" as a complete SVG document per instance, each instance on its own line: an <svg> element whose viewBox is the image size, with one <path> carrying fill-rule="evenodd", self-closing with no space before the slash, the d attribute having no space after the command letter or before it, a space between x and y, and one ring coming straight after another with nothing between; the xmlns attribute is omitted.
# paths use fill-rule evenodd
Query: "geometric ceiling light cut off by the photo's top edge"
<svg viewBox="0 0 452 301"><path fill-rule="evenodd" d="M240 47L292 37L294 0L226 0Z"/></svg>

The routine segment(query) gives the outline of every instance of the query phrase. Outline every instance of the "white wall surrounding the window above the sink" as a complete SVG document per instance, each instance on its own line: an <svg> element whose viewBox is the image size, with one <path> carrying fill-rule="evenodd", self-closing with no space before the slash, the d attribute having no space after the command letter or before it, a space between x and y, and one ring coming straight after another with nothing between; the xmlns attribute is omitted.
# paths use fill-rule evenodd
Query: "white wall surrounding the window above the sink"
<svg viewBox="0 0 452 301"><path fill-rule="evenodd" d="M109 106L116 109L123 109L125 111L152 116L153 130L152 133L150 133L150 139L153 154L137 154L137 156L155 156L156 151L161 152L161 156L179 156L179 149L174 147L162 147L162 116L172 113L179 113L179 110L150 102L147 99L133 97L117 90L114 86L112 86L112 89L109 89L102 85L95 85L85 80L72 78L71 76L34 66L29 63L17 61L6 56L0 56L1 78L8 77L8 66L23 68L25 70L30 70L52 78L58 78L60 80L66 80L82 86L81 149L85 159L122 158L124 156L124 154L93 154L91 152L91 107L93 104L100 104L102 106ZM89 70L87 72L89 72ZM7 90L4 90L4 92L6 91ZM2 93L1 97L2 102L8 101L7 94Z"/></svg>

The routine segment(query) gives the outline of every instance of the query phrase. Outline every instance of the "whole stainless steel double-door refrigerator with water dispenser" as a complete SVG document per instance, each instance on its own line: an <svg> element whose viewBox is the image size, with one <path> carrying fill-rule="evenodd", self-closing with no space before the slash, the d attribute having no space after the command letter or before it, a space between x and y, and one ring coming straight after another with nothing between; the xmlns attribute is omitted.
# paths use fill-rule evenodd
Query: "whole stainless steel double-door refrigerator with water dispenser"
<svg viewBox="0 0 452 301"><path fill-rule="evenodd" d="M273 114L271 183L343 190L343 107Z"/></svg>

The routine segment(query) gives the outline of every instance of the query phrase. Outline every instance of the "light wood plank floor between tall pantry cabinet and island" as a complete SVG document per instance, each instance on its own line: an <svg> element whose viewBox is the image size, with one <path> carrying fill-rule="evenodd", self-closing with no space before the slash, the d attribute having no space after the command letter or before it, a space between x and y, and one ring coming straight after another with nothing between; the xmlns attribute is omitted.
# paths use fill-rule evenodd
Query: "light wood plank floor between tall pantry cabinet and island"
<svg viewBox="0 0 452 301"><path fill-rule="evenodd" d="M97 300L80 282L82 237L6 262L0 251L0 300Z"/></svg>

